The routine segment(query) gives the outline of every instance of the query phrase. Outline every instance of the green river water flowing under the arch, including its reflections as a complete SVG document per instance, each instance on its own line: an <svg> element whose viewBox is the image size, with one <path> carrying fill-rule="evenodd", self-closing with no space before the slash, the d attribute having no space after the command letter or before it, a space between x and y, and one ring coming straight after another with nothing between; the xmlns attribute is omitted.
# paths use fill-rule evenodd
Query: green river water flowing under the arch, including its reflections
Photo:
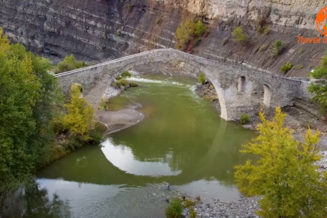
<svg viewBox="0 0 327 218"><path fill-rule="evenodd" d="M141 103L145 119L110 134L102 146L84 146L40 170L26 217L165 217L167 197L239 199L233 166L250 158L239 150L254 132L222 120L195 93L195 79L132 80L141 86L112 102Z"/></svg>

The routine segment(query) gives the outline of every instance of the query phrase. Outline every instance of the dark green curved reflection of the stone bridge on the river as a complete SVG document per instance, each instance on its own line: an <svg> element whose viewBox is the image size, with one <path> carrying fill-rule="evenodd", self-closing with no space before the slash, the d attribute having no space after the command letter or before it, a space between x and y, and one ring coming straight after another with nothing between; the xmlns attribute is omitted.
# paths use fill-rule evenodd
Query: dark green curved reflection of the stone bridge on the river
<svg viewBox="0 0 327 218"><path fill-rule="evenodd" d="M202 179L212 180L211 178L214 178L226 185L232 185L233 166L244 162L248 156L239 153L239 146L233 146L232 144L226 146L225 143L228 143L226 139L231 137L225 134L226 125L227 123L225 121L220 122L216 137L203 158L194 159L197 162L192 165L179 165L180 168L178 167L178 172L176 172L175 175L156 177L150 175L144 176L142 175L142 170L138 175L133 175L113 165L110 160L106 158L100 147L85 146L69 154L71 157L64 157L55 164L40 170L38 177L63 179L65 181L74 181L78 183L127 186L145 186L146 184L157 184L162 182L169 182L173 185L184 185L193 181ZM130 149L133 149L133 147L131 146ZM183 156L183 154L177 151L175 154L173 153L173 155L177 158L172 159L172 161L180 159ZM180 158L178 158L178 156L180 156ZM65 160L66 158L73 158L75 161L73 163L67 163ZM134 160L139 159L135 156L132 158ZM192 157L190 158L192 159ZM56 169L51 169L52 167ZM65 170L57 170L63 168ZM217 171L213 171L213 168L217 168Z"/></svg>

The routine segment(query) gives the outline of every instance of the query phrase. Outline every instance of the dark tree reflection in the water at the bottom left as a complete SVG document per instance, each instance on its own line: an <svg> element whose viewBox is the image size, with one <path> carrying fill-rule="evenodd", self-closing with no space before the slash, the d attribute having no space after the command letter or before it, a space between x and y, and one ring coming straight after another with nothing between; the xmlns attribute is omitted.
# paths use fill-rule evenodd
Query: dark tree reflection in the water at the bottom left
<svg viewBox="0 0 327 218"><path fill-rule="evenodd" d="M40 188L37 183L26 188L25 202L23 218L71 217L68 201L60 200L56 193L53 194L53 199L49 199L48 190Z"/></svg>

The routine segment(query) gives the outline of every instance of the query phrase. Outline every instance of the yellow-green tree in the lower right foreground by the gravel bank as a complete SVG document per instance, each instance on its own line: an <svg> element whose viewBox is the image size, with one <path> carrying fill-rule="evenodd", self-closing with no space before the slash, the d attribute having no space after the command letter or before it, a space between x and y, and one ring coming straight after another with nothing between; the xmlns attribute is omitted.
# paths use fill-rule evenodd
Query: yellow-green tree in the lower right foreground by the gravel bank
<svg viewBox="0 0 327 218"><path fill-rule="evenodd" d="M305 143L300 144L293 131L283 126L286 115L281 108L275 111L271 121L260 111L260 135L241 151L259 160L235 167L237 185L247 195L262 195L261 210L256 213L264 218L326 217L327 172L319 172L314 165L321 159L319 131L313 135L309 129Z"/></svg>

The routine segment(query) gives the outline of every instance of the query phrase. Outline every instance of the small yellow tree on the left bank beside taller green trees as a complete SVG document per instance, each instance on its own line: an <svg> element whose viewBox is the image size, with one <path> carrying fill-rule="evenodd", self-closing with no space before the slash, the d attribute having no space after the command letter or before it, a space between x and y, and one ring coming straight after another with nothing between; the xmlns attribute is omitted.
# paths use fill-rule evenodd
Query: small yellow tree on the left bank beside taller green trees
<svg viewBox="0 0 327 218"><path fill-rule="evenodd" d="M70 97L69 103L65 104L67 115L63 118L63 125L69 129L72 135L88 140L90 130L95 125L95 110L85 98L81 97L78 84L72 85Z"/></svg>

